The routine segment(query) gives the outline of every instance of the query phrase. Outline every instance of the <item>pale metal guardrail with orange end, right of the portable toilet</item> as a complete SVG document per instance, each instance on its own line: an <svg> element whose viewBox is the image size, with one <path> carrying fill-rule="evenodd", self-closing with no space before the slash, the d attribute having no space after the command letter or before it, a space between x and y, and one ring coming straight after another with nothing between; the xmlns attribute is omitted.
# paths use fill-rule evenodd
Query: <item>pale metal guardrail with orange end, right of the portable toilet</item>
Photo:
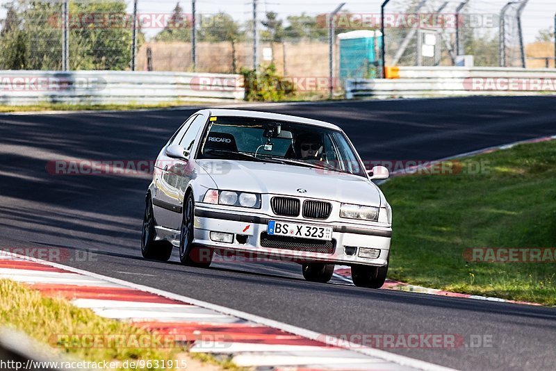
<svg viewBox="0 0 556 371"><path fill-rule="evenodd" d="M397 67L390 79L347 79L347 99L556 94L556 69Z"/></svg>

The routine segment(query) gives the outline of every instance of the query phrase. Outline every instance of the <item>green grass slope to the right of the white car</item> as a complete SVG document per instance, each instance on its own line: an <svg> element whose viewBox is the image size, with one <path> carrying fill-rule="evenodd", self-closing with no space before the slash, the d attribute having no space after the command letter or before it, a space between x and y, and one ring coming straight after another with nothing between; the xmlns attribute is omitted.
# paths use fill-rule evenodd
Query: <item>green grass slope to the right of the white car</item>
<svg viewBox="0 0 556 371"><path fill-rule="evenodd" d="M381 186L393 208L389 277L556 305L556 263L473 263L473 247L556 247L556 141L461 160L483 174L407 175Z"/></svg>

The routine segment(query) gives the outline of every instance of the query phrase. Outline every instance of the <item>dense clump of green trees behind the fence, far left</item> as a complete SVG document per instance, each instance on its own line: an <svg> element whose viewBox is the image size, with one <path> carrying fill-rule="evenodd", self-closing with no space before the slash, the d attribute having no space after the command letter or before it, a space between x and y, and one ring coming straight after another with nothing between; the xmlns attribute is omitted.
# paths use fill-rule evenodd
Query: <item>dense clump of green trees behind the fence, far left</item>
<svg viewBox="0 0 556 371"><path fill-rule="evenodd" d="M2 68L62 67L62 3L31 1L8 5L0 33ZM70 69L129 67L131 24L123 0L70 2ZM139 33L139 40L143 36Z"/></svg>

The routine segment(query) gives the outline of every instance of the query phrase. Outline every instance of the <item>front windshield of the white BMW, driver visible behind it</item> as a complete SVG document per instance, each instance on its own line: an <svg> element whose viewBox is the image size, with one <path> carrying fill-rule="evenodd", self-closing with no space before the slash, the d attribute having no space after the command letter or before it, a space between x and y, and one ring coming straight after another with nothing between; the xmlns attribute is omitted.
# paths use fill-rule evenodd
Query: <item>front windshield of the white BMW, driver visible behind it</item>
<svg viewBox="0 0 556 371"><path fill-rule="evenodd" d="M254 117L211 117L197 158L268 160L366 176L341 131Z"/></svg>

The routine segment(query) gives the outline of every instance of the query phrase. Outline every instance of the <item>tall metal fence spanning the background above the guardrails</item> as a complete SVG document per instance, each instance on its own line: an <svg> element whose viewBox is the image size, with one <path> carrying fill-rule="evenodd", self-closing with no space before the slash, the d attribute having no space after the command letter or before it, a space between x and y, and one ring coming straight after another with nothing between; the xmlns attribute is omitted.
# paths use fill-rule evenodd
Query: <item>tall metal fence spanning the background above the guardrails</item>
<svg viewBox="0 0 556 371"><path fill-rule="evenodd" d="M209 0L1 0L0 69L238 73L273 63L298 90L327 91L380 76L383 43L386 65L553 66L552 34L523 41L528 0L304 1L275 11L230 0L215 12Z"/></svg>

